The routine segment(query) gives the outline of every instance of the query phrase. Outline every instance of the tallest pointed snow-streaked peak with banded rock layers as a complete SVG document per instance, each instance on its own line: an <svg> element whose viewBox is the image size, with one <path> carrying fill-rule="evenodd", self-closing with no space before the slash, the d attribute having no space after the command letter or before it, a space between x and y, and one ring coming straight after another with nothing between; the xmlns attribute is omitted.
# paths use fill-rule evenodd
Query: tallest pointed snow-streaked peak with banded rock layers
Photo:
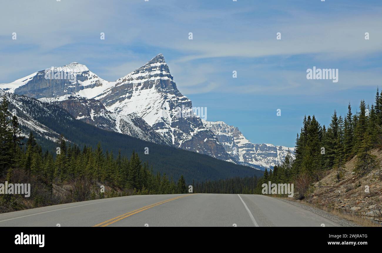
<svg viewBox="0 0 382 253"><path fill-rule="evenodd" d="M162 54L118 79L114 86L94 98L117 115L136 113L177 148L235 162L214 133L191 112L192 102L176 88ZM181 114L179 110L183 110Z"/></svg>

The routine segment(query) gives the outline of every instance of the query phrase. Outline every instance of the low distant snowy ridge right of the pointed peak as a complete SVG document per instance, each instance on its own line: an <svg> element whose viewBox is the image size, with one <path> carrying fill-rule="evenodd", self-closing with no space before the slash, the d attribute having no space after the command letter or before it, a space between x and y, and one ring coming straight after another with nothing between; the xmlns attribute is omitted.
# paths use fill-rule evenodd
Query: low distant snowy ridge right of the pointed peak
<svg viewBox="0 0 382 253"><path fill-rule="evenodd" d="M272 144L253 144L245 138L237 127L227 125L222 121L208 122L203 120L203 123L215 133L225 151L238 161L269 169L282 164L288 152L295 159L295 148Z"/></svg>

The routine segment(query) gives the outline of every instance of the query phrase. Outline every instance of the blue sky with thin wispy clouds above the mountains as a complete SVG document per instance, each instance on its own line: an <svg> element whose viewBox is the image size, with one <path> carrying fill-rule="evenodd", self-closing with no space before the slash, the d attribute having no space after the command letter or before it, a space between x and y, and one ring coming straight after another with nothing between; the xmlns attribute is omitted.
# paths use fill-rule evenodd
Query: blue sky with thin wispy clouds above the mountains
<svg viewBox="0 0 382 253"><path fill-rule="evenodd" d="M162 53L207 120L253 143L294 146L304 115L328 125L382 88L380 0L15 0L0 23L0 83L71 62L113 81ZM313 66L338 82L306 79Z"/></svg>

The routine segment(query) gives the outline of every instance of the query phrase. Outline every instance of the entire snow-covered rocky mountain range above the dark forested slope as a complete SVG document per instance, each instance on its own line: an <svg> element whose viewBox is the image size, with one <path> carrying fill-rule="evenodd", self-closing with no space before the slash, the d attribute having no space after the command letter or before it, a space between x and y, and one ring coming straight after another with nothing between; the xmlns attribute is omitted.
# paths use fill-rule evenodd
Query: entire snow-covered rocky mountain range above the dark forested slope
<svg viewBox="0 0 382 253"><path fill-rule="evenodd" d="M256 169L280 164L287 152L282 146L252 144L224 122L202 121L176 87L162 54L112 82L74 62L0 84L0 89L55 104L104 130Z"/></svg>

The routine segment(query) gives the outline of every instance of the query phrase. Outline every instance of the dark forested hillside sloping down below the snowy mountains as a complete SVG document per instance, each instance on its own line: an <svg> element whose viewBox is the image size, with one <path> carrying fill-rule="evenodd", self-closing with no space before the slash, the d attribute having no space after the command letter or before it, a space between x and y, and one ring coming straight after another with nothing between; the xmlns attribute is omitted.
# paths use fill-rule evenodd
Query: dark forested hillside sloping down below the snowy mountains
<svg viewBox="0 0 382 253"><path fill-rule="evenodd" d="M153 167L154 172L160 172L179 178L183 175L188 183L192 180L217 180L229 177L245 177L261 175L261 172L247 166L221 161L213 157L173 148L167 145L155 144L141 139L133 138L120 133L105 131L75 120L66 110L55 105L42 103L36 99L7 93L10 111L16 110L18 117L24 114L31 115L34 120L59 133L72 145L77 144L81 149L86 146L97 147L100 142L104 151L117 155L131 156L136 152L142 162ZM22 126L27 135L30 132L28 125ZM57 143L42 135L35 135L37 142L42 145L44 152L48 150L53 156L56 153ZM58 136L59 138L59 136ZM148 154L145 150L148 151Z"/></svg>

